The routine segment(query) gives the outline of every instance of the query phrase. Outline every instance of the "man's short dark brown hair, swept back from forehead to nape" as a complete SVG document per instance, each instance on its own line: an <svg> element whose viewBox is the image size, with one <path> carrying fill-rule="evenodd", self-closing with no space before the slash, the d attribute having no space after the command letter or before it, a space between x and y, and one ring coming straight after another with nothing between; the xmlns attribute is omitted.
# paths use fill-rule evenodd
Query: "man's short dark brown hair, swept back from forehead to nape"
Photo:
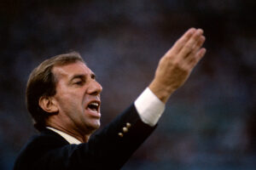
<svg viewBox="0 0 256 170"><path fill-rule="evenodd" d="M41 131L45 127L45 118L49 116L39 105L39 99L42 96L54 96L56 94L55 75L52 68L56 65L68 65L84 59L77 52L56 55L50 59L44 60L36 67L26 84L26 107L34 120L34 127Z"/></svg>

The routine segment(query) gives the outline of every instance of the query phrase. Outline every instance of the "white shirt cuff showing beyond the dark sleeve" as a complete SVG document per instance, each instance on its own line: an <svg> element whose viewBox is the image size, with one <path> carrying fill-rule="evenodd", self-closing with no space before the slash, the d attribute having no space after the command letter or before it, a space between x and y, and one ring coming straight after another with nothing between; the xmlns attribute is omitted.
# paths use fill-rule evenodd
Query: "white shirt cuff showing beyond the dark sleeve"
<svg viewBox="0 0 256 170"><path fill-rule="evenodd" d="M166 107L149 88L135 100L134 105L142 121L151 127L158 122Z"/></svg>

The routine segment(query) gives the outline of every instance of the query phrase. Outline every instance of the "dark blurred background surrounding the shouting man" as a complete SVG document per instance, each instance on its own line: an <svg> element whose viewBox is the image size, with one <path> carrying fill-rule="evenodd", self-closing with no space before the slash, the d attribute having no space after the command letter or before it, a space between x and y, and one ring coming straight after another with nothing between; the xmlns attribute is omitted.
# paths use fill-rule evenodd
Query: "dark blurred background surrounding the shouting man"
<svg viewBox="0 0 256 170"><path fill-rule="evenodd" d="M103 127L148 86L189 27L204 29L207 54L123 169L255 169L255 8L254 0L2 0L0 169L12 169L37 133L25 89L40 62L83 56L102 83Z"/></svg>

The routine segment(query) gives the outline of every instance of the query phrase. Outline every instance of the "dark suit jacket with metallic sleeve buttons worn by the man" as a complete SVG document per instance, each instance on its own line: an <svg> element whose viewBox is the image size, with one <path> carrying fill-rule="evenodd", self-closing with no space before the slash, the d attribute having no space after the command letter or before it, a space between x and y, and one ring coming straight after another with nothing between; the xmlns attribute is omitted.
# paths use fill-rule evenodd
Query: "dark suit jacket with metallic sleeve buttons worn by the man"
<svg viewBox="0 0 256 170"><path fill-rule="evenodd" d="M127 122L131 127L124 133ZM120 169L153 130L141 121L134 105L88 143L68 144L58 133L45 129L20 151L15 170Z"/></svg>

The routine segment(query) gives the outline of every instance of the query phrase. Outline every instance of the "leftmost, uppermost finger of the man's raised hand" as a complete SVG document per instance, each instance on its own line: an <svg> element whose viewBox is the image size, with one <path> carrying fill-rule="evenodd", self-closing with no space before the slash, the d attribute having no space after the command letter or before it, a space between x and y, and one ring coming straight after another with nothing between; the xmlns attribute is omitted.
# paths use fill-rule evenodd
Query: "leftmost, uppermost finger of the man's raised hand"
<svg viewBox="0 0 256 170"><path fill-rule="evenodd" d="M195 28L190 28L188 31L186 31L183 36L174 43L172 48L167 52L167 55L169 53L178 54L183 46L189 41L189 38L195 33L195 31Z"/></svg>

